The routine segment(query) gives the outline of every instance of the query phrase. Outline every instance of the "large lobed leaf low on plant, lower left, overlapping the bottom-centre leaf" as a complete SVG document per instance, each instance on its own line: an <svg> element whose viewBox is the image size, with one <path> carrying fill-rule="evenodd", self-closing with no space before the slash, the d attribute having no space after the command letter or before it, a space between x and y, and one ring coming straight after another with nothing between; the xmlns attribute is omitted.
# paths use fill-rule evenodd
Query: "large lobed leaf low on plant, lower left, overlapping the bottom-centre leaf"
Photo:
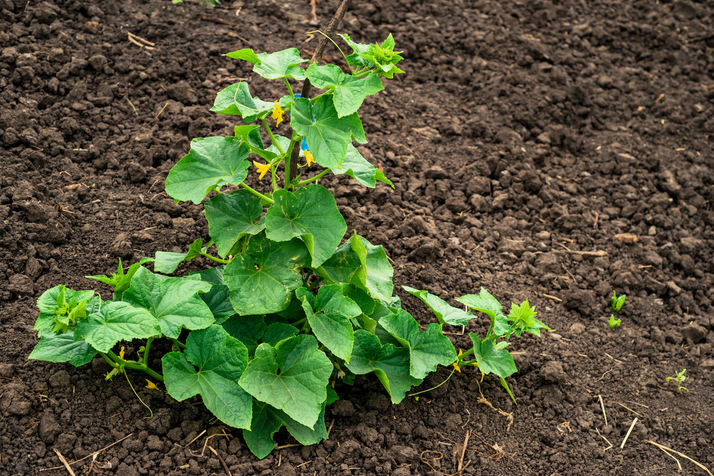
<svg viewBox="0 0 714 476"><path fill-rule="evenodd" d="M169 352L161 363L169 395L178 401L201 395L206 408L223 423L251 428L253 399L238 386L248 351L221 326L191 331L183 353Z"/></svg>

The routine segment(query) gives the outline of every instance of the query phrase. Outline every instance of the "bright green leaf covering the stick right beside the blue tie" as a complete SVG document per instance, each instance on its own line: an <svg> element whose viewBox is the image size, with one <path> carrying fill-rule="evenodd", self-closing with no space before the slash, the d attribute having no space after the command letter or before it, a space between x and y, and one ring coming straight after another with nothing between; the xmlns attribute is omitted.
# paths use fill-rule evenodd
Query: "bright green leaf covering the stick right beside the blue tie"
<svg viewBox="0 0 714 476"><path fill-rule="evenodd" d="M314 105L308 98L296 98L290 125L305 137L315 160L323 167L342 165L352 137L366 143L357 113L339 118L329 95L321 96Z"/></svg>

